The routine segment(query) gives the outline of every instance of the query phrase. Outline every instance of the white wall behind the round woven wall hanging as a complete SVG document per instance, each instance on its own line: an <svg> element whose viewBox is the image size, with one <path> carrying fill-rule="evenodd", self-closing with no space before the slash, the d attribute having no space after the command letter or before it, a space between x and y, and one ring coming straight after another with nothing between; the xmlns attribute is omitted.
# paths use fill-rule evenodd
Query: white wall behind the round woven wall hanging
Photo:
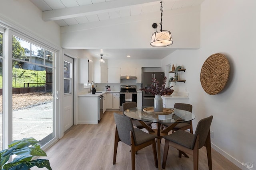
<svg viewBox="0 0 256 170"><path fill-rule="evenodd" d="M204 0L201 6L201 48L175 51L162 60L182 63L186 68L186 88L196 119L213 115L212 147L242 169L243 163L256 166L256 1ZM214 53L223 53L230 62L230 78L216 95L204 92L200 71ZM254 167L252 168L254 169Z"/></svg>

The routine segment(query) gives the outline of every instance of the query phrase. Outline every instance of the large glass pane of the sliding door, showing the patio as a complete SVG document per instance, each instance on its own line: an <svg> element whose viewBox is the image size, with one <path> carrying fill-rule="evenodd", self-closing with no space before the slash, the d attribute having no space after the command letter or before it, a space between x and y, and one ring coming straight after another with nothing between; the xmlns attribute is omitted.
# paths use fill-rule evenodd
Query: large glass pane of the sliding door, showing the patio
<svg viewBox="0 0 256 170"><path fill-rule="evenodd" d="M12 139L54 137L55 53L12 37Z"/></svg>

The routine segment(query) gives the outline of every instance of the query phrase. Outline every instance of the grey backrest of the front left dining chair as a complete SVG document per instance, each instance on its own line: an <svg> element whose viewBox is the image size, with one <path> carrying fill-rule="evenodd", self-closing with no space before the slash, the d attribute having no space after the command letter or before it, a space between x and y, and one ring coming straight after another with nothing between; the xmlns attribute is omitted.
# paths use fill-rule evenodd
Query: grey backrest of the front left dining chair
<svg viewBox="0 0 256 170"><path fill-rule="evenodd" d="M118 113L114 113L114 119L116 122L116 128L118 131L119 139L123 143L127 145L131 145L130 131L132 131L132 134L134 136L134 142L136 143L136 137L134 133L134 127L132 125L132 119L128 116L120 115Z"/></svg>

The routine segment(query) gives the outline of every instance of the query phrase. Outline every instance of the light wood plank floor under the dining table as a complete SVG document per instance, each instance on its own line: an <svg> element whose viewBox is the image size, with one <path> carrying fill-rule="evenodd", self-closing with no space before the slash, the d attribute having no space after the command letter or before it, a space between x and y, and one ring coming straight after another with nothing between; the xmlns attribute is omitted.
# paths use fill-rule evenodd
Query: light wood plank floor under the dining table
<svg viewBox="0 0 256 170"><path fill-rule="evenodd" d="M116 164L112 163L115 133L113 112L106 111L97 125L74 125L66 131L64 137L46 151L52 170L130 170L130 147L124 143L118 143ZM164 139L161 143L161 154L163 150ZM151 146L139 150L135 162L136 170L157 170L154 166ZM40 168L40 170L45 169ZM179 158L178 150L170 147L165 169L192 170L193 158L192 156L185 158L183 155ZM208 169L205 147L199 152L199 169ZM212 169L240 170L214 149L212 149Z"/></svg>

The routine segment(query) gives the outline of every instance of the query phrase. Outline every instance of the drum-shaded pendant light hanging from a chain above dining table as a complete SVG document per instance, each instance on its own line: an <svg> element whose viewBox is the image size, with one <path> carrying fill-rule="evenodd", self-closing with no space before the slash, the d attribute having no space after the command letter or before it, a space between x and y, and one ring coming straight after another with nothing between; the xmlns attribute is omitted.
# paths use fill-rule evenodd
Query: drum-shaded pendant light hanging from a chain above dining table
<svg viewBox="0 0 256 170"><path fill-rule="evenodd" d="M163 6L162 6L162 1L160 11L161 11L161 22L160 22L160 31L156 31L152 33L151 37L151 43L150 45L152 47L166 47L169 45L172 45L172 35L170 31L162 30L162 17L163 17ZM157 28L157 23L153 23L152 25L153 28Z"/></svg>

